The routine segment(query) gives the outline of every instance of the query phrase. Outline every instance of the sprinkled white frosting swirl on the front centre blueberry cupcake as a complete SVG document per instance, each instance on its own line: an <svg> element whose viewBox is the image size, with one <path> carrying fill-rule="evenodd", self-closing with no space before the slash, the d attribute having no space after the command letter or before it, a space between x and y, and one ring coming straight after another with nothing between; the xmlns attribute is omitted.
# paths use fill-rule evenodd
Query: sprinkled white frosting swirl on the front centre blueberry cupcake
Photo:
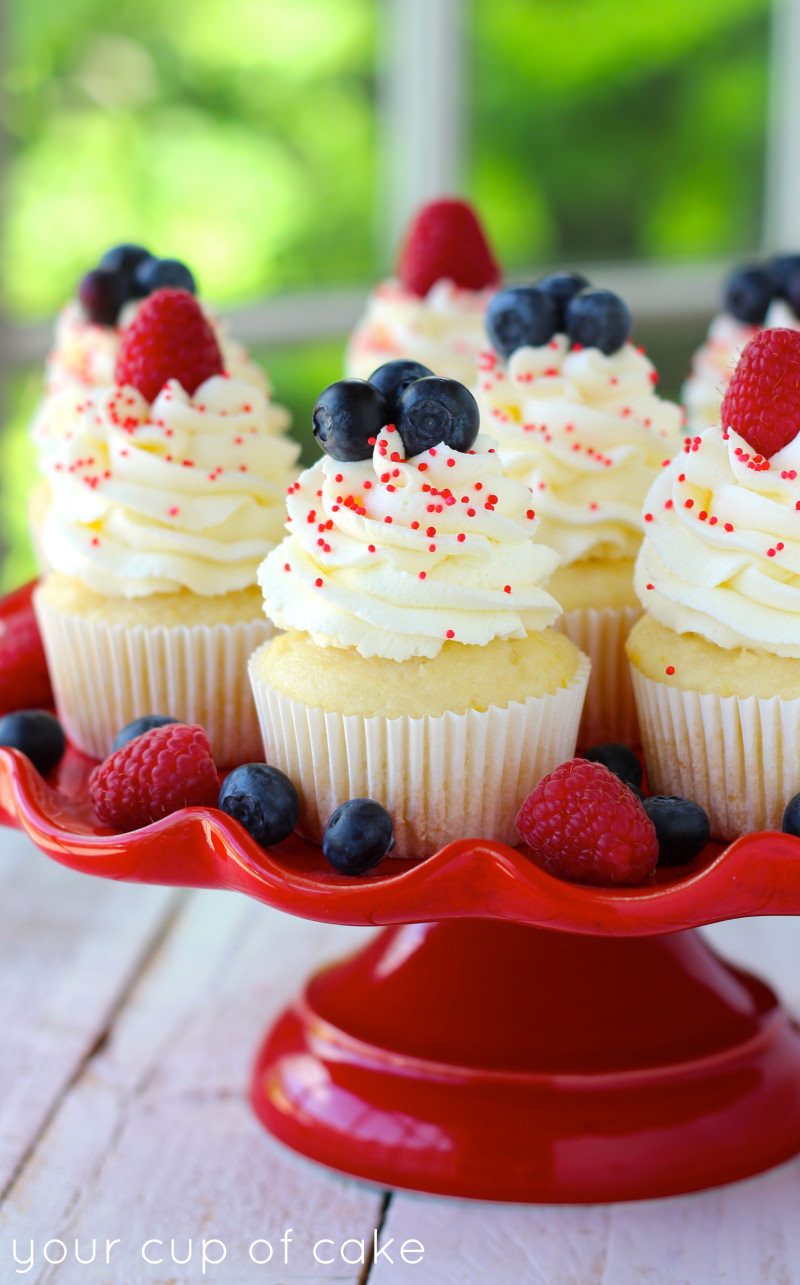
<svg viewBox="0 0 800 1285"><path fill-rule="evenodd" d="M542 587L557 555L534 544L530 492L503 477L493 443L439 443L406 459L381 430L372 456L325 456L289 490L286 536L258 581L281 628L363 657L434 657L546 628L560 607Z"/></svg>

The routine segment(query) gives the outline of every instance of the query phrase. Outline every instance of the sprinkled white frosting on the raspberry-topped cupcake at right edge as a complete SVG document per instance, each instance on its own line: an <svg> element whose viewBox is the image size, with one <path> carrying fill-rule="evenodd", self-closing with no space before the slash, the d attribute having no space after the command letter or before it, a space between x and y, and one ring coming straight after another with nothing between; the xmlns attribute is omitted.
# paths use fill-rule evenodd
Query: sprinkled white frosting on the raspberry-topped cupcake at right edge
<svg viewBox="0 0 800 1285"><path fill-rule="evenodd" d="M800 658L800 436L769 460L719 425L645 501L636 591L677 634Z"/></svg>

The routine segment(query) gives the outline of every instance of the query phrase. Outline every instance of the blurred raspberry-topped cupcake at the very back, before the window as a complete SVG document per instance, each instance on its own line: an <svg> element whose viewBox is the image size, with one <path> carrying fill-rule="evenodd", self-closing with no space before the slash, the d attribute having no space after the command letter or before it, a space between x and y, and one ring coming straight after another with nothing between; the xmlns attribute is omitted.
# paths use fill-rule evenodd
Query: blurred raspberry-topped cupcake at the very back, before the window
<svg viewBox="0 0 800 1285"><path fill-rule="evenodd" d="M483 316L500 269L471 206L434 200L411 224L397 279L367 301L345 355L345 373L369 379L407 357L430 374L471 386L483 347Z"/></svg>

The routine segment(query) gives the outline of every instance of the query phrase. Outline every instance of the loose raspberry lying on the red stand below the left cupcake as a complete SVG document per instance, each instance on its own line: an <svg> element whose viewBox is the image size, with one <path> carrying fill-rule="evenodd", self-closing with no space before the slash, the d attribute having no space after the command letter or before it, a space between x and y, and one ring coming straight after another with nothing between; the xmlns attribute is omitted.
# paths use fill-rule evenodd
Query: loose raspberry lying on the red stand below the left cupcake
<svg viewBox="0 0 800 1285"><path fill-rule="evenodd" d="M136 830L182 807L216 807L220 779L204 730L167 723L127 741L89 779L100 821Z"/></svg>

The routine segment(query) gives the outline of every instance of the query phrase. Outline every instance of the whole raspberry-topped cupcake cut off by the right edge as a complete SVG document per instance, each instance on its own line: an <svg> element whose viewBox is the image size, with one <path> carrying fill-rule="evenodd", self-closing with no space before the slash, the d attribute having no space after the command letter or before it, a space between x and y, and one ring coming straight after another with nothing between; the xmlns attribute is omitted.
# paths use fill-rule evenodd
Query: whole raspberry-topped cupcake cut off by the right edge
<svg viewBox="0 0 800 1285"><path fill-rule="evenodd" d="M800 333L750 341L720 419L647 496L628 655L651 790L733 839L800 789Z"/></svg>

